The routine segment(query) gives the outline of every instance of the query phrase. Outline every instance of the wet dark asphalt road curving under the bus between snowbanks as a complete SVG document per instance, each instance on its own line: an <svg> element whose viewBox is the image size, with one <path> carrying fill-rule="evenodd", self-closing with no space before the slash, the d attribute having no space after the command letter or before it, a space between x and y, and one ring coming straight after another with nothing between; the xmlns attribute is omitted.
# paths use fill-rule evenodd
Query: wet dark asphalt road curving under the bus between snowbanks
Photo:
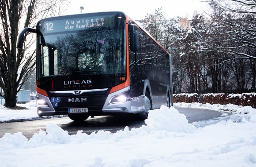
<svg viewBox="0 0 256 167"><path fill-rule="evenodd" d="M208 109L183 107L175 107L175 109L186 116L188 123L211 120L222 115L221 112ZM68 134L76 134L77 131L80 130L83 130L83 133L87 134L100 130L115 133L119 130L123 130L126 126L128 126L129 129L132 129L133 127L138 128L142 125L146 125L144 121L138 121L131 117L124 116L95 116L95 118L89 118L83 123L76 123L68 117L62 117L24 122L0 123L0 138L6 133L14 134L15 132L22 132L22 134L29 139L34 133L38 133L40 129L46 131L45 125L49 122L57 124L63 130L68 131Z"/></svg>

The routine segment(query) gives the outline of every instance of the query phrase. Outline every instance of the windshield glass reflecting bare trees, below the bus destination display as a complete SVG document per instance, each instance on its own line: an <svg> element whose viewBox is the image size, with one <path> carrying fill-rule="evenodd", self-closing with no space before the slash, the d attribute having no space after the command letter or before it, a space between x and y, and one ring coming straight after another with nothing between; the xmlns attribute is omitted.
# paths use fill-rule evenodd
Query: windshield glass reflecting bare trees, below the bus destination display
<svg viewBox="0 0 256 167"><path fill-rule="evenodd" d="M126 73L124 26L118 29L113 25L94 27L74 33L45 35L44 38L46 46L41 51L41 76L90 71L116 76ZM55 49L51 52L52 46Z"/></svg>

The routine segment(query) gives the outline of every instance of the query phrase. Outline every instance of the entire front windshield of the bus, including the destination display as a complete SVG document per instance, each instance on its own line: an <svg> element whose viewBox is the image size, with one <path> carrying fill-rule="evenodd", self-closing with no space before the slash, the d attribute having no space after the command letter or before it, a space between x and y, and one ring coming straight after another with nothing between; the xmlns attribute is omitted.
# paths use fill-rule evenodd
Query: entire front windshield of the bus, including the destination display
<svg viewBox="0 0 256 167"><path fill-rule="evenodd" d="M39 21L38 76L126 75L124 19L74 15Z"/></svg>

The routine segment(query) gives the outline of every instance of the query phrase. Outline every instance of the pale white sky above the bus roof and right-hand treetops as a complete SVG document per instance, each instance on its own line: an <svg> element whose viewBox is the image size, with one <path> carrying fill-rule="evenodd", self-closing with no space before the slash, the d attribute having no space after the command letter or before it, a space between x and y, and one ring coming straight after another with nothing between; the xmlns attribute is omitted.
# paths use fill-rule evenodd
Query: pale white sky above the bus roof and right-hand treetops
<svg viewBox="0 0 256 167"><path fill-rule="evenodd" d="M99 11L123 11L135 20L142 20L147 14L154 14L162 7L162 14L166 19L191 17L194 11L201 13L207 10L207 5L201 0L69 0L67 11L63 15L79 14Z"/></svg>

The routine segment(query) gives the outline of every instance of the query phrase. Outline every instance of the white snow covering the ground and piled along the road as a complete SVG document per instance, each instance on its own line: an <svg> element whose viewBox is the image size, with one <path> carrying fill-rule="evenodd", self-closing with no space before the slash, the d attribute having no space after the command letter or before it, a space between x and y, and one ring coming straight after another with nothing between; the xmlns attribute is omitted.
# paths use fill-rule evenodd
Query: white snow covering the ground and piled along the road
<svg viewBox="0 0 256 167"><path fill-rule="evenodd" d="M26 110L0 106L0 121L38 119ZM225 110L218 123L188 123L175 107ZM29 122L28 122L29 123ZM0 138L0 167L255 167L256 109L250 106L175 103L151 110L146 125L110 133L69 135L54 123L27 139L21 132Z"/></svg>

